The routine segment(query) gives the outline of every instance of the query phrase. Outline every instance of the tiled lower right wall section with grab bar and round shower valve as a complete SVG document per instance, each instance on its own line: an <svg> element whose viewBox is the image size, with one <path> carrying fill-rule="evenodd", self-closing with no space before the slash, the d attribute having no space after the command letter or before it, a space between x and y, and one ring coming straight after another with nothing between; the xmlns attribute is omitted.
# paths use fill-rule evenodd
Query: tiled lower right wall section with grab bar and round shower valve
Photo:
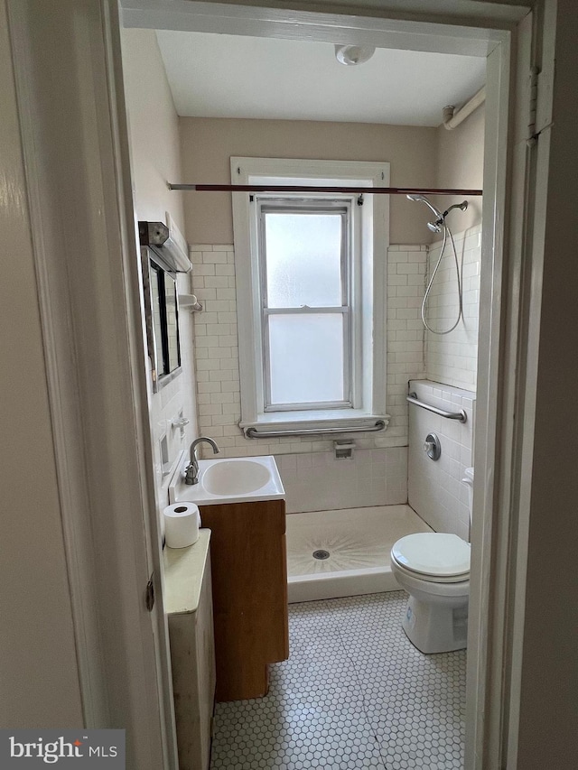
<svg viewBox="0 0 578 770"><path fill-rule="evenodd" d="M446 412L463 409L468 420L461 423L419 406L409 407L409 505L436 532L454 533L469 540L468 487L461 479L464 469L472 465L476 394L424 380L413 381L411 389L420 401ZM438 460L430 459L424 451L425 437L430 432L442 445Z"/></svg>

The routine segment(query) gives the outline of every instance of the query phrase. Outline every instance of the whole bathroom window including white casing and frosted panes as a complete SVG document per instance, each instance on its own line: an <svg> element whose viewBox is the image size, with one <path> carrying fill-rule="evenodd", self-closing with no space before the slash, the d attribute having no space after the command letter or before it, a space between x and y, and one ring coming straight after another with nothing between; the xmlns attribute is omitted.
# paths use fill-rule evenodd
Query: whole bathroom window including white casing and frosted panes
<svg viewBox="0 0 578 770"><path fill-rule="evenodd" d="M234 183L368 194L233 195L242 428L385 413L387 163L232 158Z"/></svg>

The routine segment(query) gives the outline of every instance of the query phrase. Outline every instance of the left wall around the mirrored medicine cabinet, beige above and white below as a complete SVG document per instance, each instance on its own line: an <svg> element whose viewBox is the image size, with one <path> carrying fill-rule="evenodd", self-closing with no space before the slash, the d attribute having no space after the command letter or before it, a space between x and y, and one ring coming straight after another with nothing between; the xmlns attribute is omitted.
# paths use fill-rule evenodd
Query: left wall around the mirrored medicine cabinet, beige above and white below
<svg viewBox="0 0 578 770"><path fill-rule="evenodd" d="M165 222L165 212L168 211L184 235L182 193L171 192L166 186L167 181L181 177L181 152L178 117L156 35L152 30L125 29L122 30L122 46L136 216ZM179 274L178 285L179 292L189 293L189 275ZM197 435L189 311L181 311L179 330L182 375L159 393L152 394L150 404L159 512L168 504L167 485L170 480L170 476L163 477L160 441L166 436L169 461L172 462ZM191 421L184 435L171 424L172 418L177 417L181 410Z"/></svg>

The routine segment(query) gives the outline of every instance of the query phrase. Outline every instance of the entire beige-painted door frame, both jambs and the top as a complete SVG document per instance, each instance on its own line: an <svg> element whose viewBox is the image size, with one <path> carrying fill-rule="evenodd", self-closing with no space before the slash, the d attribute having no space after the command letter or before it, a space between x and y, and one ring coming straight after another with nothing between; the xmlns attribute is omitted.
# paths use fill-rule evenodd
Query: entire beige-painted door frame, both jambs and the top
<svg viewBox="0 0 578 770"><path fill-rule="evenodd" d="M8 5L86 724L126 727L135 766L176 768L160 583L159 611L144 609L145 579L162 560L117 2ZM548 172L547 135L533 134L551 112L555 0L531 15L491 2L448 0L427 14L423 5L383 0L361 15L354 0L318 0L315 11L126 0L124 15L205 32L380 36L401 48L489 43L466 768L513 770ZM528 133L531 65L542 83ZM58 98L42 97L43 67L61 74ZM53 147L64 169L46 162Z"/></svg>

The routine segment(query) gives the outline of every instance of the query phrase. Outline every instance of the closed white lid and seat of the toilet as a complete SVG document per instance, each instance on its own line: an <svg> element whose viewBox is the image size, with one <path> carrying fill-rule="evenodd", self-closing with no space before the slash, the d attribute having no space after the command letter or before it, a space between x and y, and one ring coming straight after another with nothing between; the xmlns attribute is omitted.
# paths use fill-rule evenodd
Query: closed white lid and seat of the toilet
<svg viewBox="0 0 578 770"><path fill-rule="evenodd" d="M402 537L391 549L406 570L451 578L470 571L470 545L457 534L424 532Z"/></svg>

